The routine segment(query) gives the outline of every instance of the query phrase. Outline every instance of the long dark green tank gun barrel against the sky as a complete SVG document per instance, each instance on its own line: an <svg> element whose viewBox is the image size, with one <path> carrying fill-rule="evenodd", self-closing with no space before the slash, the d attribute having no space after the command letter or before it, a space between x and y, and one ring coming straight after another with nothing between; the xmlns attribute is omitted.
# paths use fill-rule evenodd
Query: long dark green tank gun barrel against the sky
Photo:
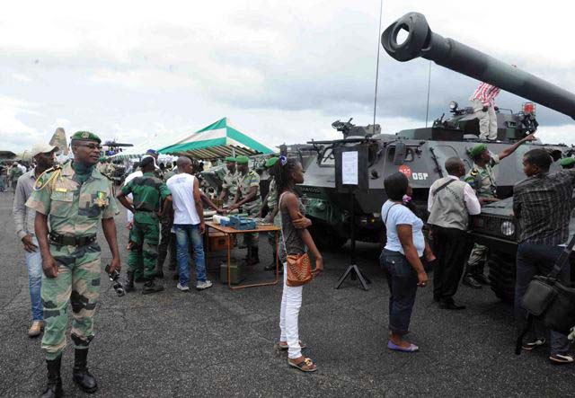
<svg viewBox="0 0 575 398"><path fill-rule="evenodd" d="M408 36L398 42L401 31L407 31ZM387 54L398 61L424 57L575 119L575 94L456 40L444 38L431 31L421 13L406 13L389 25L382 34L381 43Z"/></svg>

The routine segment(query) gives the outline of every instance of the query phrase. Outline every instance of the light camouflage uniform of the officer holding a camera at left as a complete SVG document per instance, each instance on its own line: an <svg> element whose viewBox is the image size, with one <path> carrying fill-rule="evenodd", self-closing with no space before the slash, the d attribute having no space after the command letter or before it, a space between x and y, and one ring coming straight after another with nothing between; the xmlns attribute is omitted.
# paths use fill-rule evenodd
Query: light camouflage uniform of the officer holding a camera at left
<svg viewBox="0 0 575 398"><path fill-rule="evenodd" d="M102 218L118 214L112 184L95 168L84 183L80 181L72 163L64 164L61 170L51 169L38 179L26 206L49 215L52 233L75 238L94 235ZM58 274L56 278L42 277L46 322L42 349L52 360L66 347L68 301L74 313L71 338L75 348L87 349L93 339L101 249L95 241L83 246L50 243L49 247L57 261Z"/></svg>

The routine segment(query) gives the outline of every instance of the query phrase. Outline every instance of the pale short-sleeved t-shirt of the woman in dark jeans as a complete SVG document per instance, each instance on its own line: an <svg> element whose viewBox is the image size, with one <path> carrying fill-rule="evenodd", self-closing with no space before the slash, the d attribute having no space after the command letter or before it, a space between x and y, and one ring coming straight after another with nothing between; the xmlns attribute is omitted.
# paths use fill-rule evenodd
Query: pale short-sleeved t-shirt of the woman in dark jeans
<svg viewBox="0 0 575 398"><path fill-rule="evenodd" d="M393 205L393 201L387 200L381 208L381 219L384 221L387 230L385 249L405 254L397 235L397 226L407 224L411 226L413 245L417 250L417 254L421 257L425 249L425 238L423 237L423 232L421 232L423 221L421 221L420 217L415 216L409 208L399 204ZM385 217L387 217L387 222L385 222Z"/></svg>

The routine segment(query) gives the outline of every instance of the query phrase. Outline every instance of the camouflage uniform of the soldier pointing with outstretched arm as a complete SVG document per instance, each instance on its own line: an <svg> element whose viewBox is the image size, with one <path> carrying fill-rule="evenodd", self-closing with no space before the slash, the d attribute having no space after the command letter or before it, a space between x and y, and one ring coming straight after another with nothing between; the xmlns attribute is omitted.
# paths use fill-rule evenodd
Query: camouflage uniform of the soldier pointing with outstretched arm
<svg viewBox="0 0 575 398"><path fill-rule="evenodd" d="M495 181L493 167L497 164L500 164L500 157L499 155L493 155L491 156L491 161L485 164L485 167L473 164L472 169L465 175L464 181L475 190L478 199L495 198L497 182ZM485 261L487 261L487 246L473 243L473 250L467 261L465 275L473 277L482 274Z"/></svg>

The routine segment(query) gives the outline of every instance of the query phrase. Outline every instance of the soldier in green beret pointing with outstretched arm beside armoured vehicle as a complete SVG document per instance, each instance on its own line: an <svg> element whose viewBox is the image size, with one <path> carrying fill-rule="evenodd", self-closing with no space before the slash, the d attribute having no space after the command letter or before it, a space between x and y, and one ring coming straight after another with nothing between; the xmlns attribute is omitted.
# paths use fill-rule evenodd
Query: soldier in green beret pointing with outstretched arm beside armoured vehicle
<svg viewBox="0 0 575 398"><path fill-rule="evenodd" d="M472 169L465 175L467 182L477 195L479 203L486 204L496 202L497 181L493 167L500 164L500 161L513 154L521 144L535 139L535 133L517 141L512 146L505 148L499 155L492 155L485 144L473 146L469 155L473 159ZM483 265L487 261L487 247L474 243L473 250L467 261L467 267L463 279L463 284L468 287L482 288L482 285L489 285L489 279L483 273Z"/></svg>

